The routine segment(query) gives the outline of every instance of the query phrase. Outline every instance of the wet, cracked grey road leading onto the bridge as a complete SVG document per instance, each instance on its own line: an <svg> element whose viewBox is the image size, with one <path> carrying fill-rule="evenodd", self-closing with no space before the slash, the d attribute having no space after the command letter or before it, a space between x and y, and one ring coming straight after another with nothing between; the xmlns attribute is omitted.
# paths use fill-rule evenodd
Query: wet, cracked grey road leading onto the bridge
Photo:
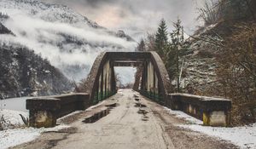
<svg viewBox="0 0 256 149"><path fill-rule="evenodd" d="M137 97L136 97L137 96ZM142 106L138 106L136 98ZM177 127L185 121L170 115L163 106L145 99L131 89L120 90L102 105L116 102L106 117L94 123L84 123L87 112L67 117L61 123L71 128L47 132L37 140L14 148L54 149L177 149L177 148L237 148L207 135ZM91 108L89 112L95 109Z"/></svg>

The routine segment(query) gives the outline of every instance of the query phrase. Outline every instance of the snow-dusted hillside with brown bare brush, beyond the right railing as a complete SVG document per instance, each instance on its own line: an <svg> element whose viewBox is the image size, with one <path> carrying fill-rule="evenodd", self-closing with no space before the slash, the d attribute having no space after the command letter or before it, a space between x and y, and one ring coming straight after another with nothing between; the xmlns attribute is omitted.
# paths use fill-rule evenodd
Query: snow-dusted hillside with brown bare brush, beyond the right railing
<svg viewBox="0 0 256 149"><path fill-rule="evenodd" d="M232 100L232 123L256 122L256 24L220 21L187 41L183 92Z"/></svg>

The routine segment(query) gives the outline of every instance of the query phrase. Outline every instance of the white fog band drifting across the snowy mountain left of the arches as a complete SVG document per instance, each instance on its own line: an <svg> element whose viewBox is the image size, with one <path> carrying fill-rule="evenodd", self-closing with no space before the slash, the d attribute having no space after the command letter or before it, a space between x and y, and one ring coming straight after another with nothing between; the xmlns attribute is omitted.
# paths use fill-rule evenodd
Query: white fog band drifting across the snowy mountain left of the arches
<svg viewBox="0 0 256 149"><path fill-rule="evenodd" d="M4 22L4 26L16 36L3 35L0 42L19 43L33 49L76 81L87 76L102 51L132 51L136 46L136 43L110 35L104 29L46 21L16 9L3 9L3 12L11 18Z"/></svg>

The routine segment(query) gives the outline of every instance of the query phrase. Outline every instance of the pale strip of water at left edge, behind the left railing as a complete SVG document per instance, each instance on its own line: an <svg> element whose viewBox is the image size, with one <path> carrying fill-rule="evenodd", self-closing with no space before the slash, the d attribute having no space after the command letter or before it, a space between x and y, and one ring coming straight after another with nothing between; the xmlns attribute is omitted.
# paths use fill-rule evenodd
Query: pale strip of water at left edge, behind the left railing
<svg viewBox="0 0 256 149"><path fill-rule="evenodd" d="M10 98L7 100L0 100L0 109L28 112L28 110L26 110L26 100L31 98L33 97L19 97Z"/></svg>

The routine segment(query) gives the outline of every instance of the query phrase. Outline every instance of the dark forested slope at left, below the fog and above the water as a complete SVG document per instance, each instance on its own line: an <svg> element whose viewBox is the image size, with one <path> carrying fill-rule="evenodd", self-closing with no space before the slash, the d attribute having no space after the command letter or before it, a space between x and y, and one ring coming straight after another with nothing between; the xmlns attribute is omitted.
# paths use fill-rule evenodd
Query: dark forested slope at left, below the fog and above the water
<svg viewBox="0 0 256 149"><path fill-rule="evenodd" d="M20 45L0 45L0 99L27 95L56 95L73 88L58 69Z"/></svg>

